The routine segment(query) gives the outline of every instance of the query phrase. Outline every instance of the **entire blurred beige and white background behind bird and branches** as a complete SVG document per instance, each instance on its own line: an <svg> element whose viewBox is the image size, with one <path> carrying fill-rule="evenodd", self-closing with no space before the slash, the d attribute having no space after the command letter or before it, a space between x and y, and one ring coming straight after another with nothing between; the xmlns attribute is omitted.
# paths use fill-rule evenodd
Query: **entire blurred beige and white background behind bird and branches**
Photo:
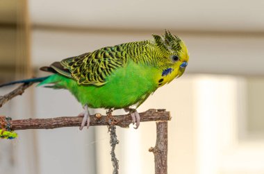
<svg viewBox="0 0 264 174"><path fill-rule="evenodd" d="M0 1L0 83L103 46L164 29L190 51L185 74L139 108L165 108L168 173L264 173L264 1ZM0 95L14 87L0 89ZM65 90L31 87L0 109L13 119L76 116ZM92 110L101 112L104 110ZM116 111L115 113L122 113ZM112 173L108 129L21 130L0 141L6 174ZM154 173L156 124L117 129L119 173Z"/></svg>

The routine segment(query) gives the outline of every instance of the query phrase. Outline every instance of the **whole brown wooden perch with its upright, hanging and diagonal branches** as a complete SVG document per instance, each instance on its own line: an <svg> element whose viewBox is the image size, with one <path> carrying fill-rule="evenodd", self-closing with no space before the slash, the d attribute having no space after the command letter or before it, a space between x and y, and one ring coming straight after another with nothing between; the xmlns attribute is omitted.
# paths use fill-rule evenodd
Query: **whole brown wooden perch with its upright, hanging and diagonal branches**
<svg viewBox="0 0 264 174"><path fill-rule="evenodd" d="M24 90L30 87L33 83L24 83L17 87L9 94L0 96L0 107L12 98L22 95ZM156 121L156 146L149 148L149 152L154 153L155 159L155 173L167 174L167 121L170 121L170 112L165 110L150 109L146 112L140 113L140 122ZM11 120L10 117L0 116L1 130L28 130L28 129L53 129L63 127L80 126L83 116L63 116L51 119L22 119ZM113 173L118 174L118 160L115 157L115 145L119 142L117 140L115 125L122 128L128 128L132 123L130 114L115 115L112 117L94 114L90 116L90 125L108 125L110 130L110 145L112 147L111 157L113 162ZM3 133L3 132L2 132Z"/></svg>

